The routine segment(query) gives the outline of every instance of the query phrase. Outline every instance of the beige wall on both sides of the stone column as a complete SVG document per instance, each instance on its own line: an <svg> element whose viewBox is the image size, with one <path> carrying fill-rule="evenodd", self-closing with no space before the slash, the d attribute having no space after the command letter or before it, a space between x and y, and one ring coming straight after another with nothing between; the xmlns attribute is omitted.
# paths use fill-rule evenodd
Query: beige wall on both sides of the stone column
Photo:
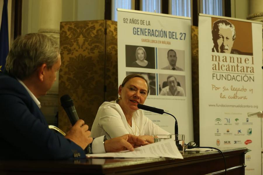
<svg viewBox="0 0 263 175"><path fill-rule="evenodd" d="M62 21L104 19L104 4L104 0L63 0ZM22 35L39 30L39 6L40 0L23 0Z"/></svg>

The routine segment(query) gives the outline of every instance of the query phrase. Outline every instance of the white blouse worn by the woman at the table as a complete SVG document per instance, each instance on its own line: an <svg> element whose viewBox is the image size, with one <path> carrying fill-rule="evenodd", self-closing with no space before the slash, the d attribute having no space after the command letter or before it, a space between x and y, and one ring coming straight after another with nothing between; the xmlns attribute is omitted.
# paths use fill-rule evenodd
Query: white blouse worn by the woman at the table
<svg viewBox="0 0 263 175"><path fill-rule="evenodd" d="M116 101L106 101L98 109L91 128L91 137L106 135L107 139L111 139L124 134L136 136L170 134L147 118L141 109L134 112L131 126L127 123L120 105Z"/></svg>

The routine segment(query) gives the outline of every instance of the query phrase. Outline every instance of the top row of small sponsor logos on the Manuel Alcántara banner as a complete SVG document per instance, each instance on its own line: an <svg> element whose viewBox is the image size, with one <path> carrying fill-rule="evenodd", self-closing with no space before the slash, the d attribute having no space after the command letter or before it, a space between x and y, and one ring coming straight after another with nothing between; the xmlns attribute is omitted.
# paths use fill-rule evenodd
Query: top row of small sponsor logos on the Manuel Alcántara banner
<svg viewBox="0 0 263 175"><path fill-rule="evenodd" d="M253 122L250 122L249 118L242 118L240 120L239 118L216 118L214 122L215 125L253 125Z"/></svg>

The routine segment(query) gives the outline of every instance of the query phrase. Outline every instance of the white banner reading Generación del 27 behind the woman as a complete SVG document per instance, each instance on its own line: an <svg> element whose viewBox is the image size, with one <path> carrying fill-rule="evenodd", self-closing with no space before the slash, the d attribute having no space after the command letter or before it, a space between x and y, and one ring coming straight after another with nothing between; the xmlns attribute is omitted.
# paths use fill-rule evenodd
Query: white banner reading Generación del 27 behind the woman
<svg viewBox="0 0 263 175"><path fill-rule="evenodd" d="M144 76L150 86L145 105L173 114L179 134L193 141L191 18L117 10L119 85L129 74ZM174 134L172 116L148 111L144 114Z"/></svg>

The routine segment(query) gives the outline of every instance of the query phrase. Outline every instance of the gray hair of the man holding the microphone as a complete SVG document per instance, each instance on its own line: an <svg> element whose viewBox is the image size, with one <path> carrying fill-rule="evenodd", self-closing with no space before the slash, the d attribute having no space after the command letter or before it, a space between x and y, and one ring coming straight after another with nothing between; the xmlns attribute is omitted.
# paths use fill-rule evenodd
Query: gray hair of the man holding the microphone
<svg viewBox="0 0 263 175"><path fill-rule="evenodd" d="M56 40L39 33L18 36L6 58L6 71L24 80L42 64L48 69L58 61L60 47Z"/></svg>

